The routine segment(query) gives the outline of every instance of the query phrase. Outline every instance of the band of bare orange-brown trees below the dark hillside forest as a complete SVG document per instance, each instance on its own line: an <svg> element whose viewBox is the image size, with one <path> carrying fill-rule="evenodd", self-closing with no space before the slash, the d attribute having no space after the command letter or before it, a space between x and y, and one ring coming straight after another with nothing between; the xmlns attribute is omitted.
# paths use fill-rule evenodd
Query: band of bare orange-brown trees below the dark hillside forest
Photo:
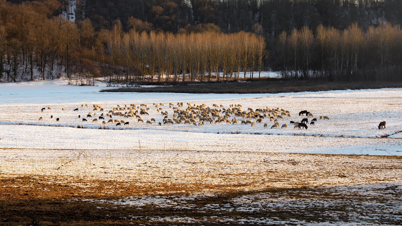
<svg viewBox="0 0 402 226"><path fill-rule="evenodd" d="M382 19L364 29L357 23L342 28L310 25L272 36L223 33L214 24L170 33L148 29L146 21L136 18L127 21L130 29L121 21L95 29L89 19L58 17L61 7L55 0L0 3L0 79L65 76L74 84L93 84L93 77L102 76L110 84L221 81L245 79L249 72L253 78L254 71L271 68L290 78L400 80L402 32Z"/></svg>

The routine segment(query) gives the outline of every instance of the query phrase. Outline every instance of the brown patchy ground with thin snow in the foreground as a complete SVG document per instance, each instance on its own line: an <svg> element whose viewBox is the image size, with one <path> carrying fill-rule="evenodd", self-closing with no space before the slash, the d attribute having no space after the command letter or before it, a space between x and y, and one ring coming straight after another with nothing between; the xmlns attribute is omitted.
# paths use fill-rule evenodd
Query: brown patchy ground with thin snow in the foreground
<svg viewBox="0 0 402 226"><path fill-rule="evenodd" d="M136 176L121 180L69 176L67 167L59 175L2 173L0 224L398 224L402 220L402 157L240 152L250 161L229 163L208 158L195 162L187 158L191 154L187 151L175 160L166 157L165 165L151 164L153 168L138 169ZM161 172L167 175L175 164L184 167L181 173L161 178ZM233 173L220 173L223 167ZM247 172L239 173L240 168Z"/></svg>

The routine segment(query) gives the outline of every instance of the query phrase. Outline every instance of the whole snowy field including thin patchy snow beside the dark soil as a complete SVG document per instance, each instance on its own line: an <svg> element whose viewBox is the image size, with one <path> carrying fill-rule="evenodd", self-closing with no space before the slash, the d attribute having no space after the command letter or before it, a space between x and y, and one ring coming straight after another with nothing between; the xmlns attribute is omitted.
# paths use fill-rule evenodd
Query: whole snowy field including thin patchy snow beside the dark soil
<svg viewBox="0 0 402 226"><path fill-rule="evenodd" d="M193 192L196 197L214 196L229 190L327 187L324 192L337 194L345 200L321 200L313 198L314 194L294 198L291 192L281 196L257 192L233 198L226 206L196 208L198 211L261 212L284 207L300 211L298 206L342 204L353 206L348 210L348 220L337 218L340 213L332 210L324 214L334 217L334 222L352 224L402 219L400 197L395 196L402 187L402 88L279 94L183 94L98 92L105 85L100 82L96 85L68 86L62 80L1 83L0 175L56 176L59 183L71 183L71 178L79 178L149 187L163 183L184 184L187 192ZM178 102L183 102L183 106L177 106ZM278 119L279 129L270 129L273 122L268 117L253 127L242 125L240 121L246 119L239 117L236 125L225 122L202 126L166 125L163 124L164 116L153 103L162 108L160 112L167 111L168 118L173 118L173 107L184 110L187 103L191 106L204 103L221 110L230 108L231 104L240 104L246 111L248 108L283 108L290 112L290 117ZM93 104L102 106L104 111L99 111L100 108L93 110ZM141 116L144 123L136 118L113 116L113 120L124 120L129 125L116 126L115 122L103 125L104 120L98 117L104 113L105 121L108 121L110 118L106 114L118 104L122 108L130 104L145 108L140 104L147 104L149 115ZM42 108L45 109L42 111ZM74 111L75 108L78 110ZM310 111L314 117L298 116L301 110ZM129 109L118 111L124 114ZM86 117L89 112L90 118ZM327 116L329 120L320 120L320 116ZM43 120L39 121L40 117ZM83 122L82 118L87 121ZM92 122L95 118L98 122ZM145 123L152 118L156 123ZM318 120L314 126L309 124L307 130L294 129L289 123L304 118L309 122L313 118ZM386 121L386 129L378 130L382 121ZM288 127L280 129L284 124ZM368 199L380 195L389 201L362 203L355 200L352 205L346 198L349 192ZM121 200L84 201L196 209L182 200L185 198L188 196L134 196L122 197ZM391 212L384 213L384 208ZM359 215L361 209L371 215ZM375 221L374 218L385 221ZM149 220L202 222L185 216ZM219 217L215 220L220 223L306 223L274 217Z"/></svg>

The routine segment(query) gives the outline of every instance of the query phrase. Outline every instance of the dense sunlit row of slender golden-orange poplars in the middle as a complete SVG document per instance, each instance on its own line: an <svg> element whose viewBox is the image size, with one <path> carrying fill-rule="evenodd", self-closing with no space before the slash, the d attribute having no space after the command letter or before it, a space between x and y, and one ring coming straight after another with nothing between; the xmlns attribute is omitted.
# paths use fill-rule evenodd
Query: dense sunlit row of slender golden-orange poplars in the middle
<svg viewBox="0 0 402 226"><path fill-rule="evenodd" d="M267 56L264 38L245 32L124 33L117 24L107 36L104 73L111 84L233 80L246 78L247 71L252 78Z"/></svg>

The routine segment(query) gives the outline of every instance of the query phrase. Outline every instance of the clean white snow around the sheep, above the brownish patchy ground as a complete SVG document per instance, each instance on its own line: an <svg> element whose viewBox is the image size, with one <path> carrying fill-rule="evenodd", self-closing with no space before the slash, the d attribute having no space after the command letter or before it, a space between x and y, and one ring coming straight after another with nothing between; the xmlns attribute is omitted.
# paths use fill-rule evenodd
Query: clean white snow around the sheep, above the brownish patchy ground
<svg viewBox="0 0 402 226"><path fill-rule="evenodd" d="M168 145L190 150L402 155L400 88L278 94L183 94L99 92L105 85L97 85L69 86L62 80L0 84L0 128L3 131L0 147L72 148L72 141L75 141L78 149L130 149L138 148L140 140L141 145L149 149L163 149ZM241 123L164 125L163 115L157 112L153 103L164 103L158 107L162 108L161 111L168 111L168 117L173 118L169 102L174 106L183 102L179 109L185 109L186 103L205 103L212 108L216 108L213 104L222 104L225 108L229 108L230 104L241 104L242 110L246 111L249 107L278 107L289 110L291 117L279 119L278 128L287 124L284 129L270 129L273 122L268 118L254 127ZM141 118L144 122L154 118L162 126L157 123L147 125L135 118L120 116L114 116L113 120L124 120L129 125L103 125L104 120L92 123L94 118L102 113L105 116L118 104L124 107L131 103L138 107L141 103L147 104L149 115ZM102 106L104 111L94 111L93 104ZM46 109L41 111L43 107ZM75 108L78 111L74 111ZM307 118L298 116L300 110L312 112L318 119L316 125L309 125L307 130L293 129L290 121L300 122ZM129 110L120 111L124 114ZM89 112L92 115L96 113L96 117L87 118ZM78 118L78 115L81 117ZM328 116L330 120L320 120L319 116ZM39 121L40 117L43 120ZM82 118L87 122L83 122ZM105 116L106 122L109 119ZM229 118L232 119L233 116ZM245 120L237 119L239 122ZM313 117L308 119L311 122ZM382 121L386 121L386 129L378 130ZM266 128L263 127L265 123L268 125ZM109 139L111 137L121 137L126 142Z"/></svg>

